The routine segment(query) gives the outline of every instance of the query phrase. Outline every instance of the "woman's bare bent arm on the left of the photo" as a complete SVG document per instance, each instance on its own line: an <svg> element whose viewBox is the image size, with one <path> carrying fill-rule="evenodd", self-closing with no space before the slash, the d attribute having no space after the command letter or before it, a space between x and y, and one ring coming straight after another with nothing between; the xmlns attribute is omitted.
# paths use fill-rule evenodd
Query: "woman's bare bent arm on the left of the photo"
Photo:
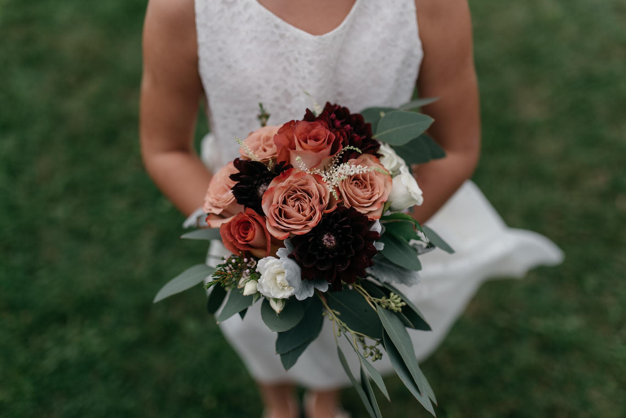
<svg viewBox="0 0 626 418"><path fill-rule="evenodd" d="M184 214L202 205L211 178L193 150L202 97L193 0L150 0L143 32L141 155Z"/></svg>

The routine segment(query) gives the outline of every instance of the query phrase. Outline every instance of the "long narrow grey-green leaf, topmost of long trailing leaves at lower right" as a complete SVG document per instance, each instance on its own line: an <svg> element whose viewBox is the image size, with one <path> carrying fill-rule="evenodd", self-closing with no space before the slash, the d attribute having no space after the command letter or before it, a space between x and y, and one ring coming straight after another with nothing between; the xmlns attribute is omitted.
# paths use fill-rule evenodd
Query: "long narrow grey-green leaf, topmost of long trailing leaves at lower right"
<svg viewBox="0 0 626 418"><path fill-rule="evenodd" d="M391 338L391 342L393 342L394 347L398 349L400 356L404 360L404 364L406 364L411 376L415 380L416 384L418 384L419 391L421 394L424 394L424 391L426 391L426 394L431 395L428 393L427 389L430 385L424 383L426 377L424 377L424 374L419 368L418 359L415 357L413 341L411 341L411 336L404 327L404 324L398 316L386 309L379 309L378 315L381 318L382 326L385 328L385 332Z"/></svg>

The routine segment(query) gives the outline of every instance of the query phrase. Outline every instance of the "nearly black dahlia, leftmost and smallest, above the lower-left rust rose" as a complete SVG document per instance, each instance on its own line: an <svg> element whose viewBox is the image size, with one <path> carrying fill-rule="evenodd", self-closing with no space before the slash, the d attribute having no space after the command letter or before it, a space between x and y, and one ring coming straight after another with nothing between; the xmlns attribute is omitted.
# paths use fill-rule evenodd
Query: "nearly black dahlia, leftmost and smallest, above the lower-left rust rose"
<svg viewBox="0 0 626 418"><path fill-rule="evenodd" d="M236 182L231 188L233 196L235 196L237 203L253 209L258 214L263 214L261 201L267 186L274 177L292 168L292 165L285 165L284 162L281 162L275 165L273 170L268 170L267 166L260 161L239 158L235 159L233 164L239 170L238 173L229 176L231 180Z"/></svg>

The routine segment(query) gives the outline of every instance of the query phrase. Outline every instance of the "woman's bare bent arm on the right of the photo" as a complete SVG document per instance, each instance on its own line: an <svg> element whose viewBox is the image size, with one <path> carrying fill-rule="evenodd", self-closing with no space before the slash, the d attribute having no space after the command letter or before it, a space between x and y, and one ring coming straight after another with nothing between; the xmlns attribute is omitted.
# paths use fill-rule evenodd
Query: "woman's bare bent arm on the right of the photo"
<svg viewBox="0 0 626 418"><path fill-rule="evenodd" d="M415 207L413 216L425 222L476 167L480 108L467 1L416 0L416 5L424 48L418 91L421 97L440 98L423 112L434 118L428 133L447 154L414 171L424 204Z"/></svg>

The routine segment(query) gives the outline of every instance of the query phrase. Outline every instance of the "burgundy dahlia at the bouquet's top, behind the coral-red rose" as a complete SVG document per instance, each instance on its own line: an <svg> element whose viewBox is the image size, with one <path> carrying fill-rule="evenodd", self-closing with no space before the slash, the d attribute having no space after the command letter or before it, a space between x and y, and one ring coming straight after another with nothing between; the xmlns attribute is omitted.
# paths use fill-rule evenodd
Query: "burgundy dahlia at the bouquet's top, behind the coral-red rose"
<svg viewBox="0 0 626 418"><path fill-rule="evenodd" d="M324 120L329 127L342 138L344 147L350 145L361 150L362 154L377 155L381 145L372 138L372 125L366 123L361 113L350 113L347 107L326 102L322 113L316 117L309 109L304 115L304 120L313 122L314 120ZM342 162L359 157L356 151L344 152Z"/></svg>

